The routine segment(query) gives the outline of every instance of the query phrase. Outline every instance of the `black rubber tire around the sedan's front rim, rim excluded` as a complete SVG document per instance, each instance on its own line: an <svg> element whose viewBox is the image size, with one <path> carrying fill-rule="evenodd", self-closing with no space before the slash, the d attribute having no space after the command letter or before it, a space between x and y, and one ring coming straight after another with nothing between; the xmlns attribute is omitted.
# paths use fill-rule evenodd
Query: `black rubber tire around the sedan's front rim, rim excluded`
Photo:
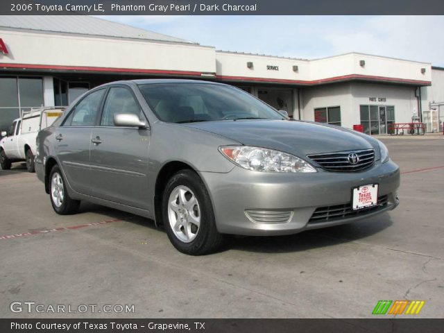
<svg viewBox="0 0 444 333"><path fill-rule="evenodd" d="M179 185L184 185L191 189L198 200L200 207L200 226L198 230L198 234L193 241L189 243L185 243L180 241L174 234L171 225L169 223L168 217L168 201L171 191L178 187ZM207 253L209 250L209 241L214 235L214 232L217 233L216 223L214 219L214 212L212 203L210 200L210 196L203 184L203 181L200 177L191 170L179 171L176 173L169 182L164 190L164 195L162 198L162 219L164 222L164 228L167 230L168 237L173 244L173 246L178 249L182 253L186 253L189 255L200 255ZM211 242L211 241L210 241Z"/></svg>

